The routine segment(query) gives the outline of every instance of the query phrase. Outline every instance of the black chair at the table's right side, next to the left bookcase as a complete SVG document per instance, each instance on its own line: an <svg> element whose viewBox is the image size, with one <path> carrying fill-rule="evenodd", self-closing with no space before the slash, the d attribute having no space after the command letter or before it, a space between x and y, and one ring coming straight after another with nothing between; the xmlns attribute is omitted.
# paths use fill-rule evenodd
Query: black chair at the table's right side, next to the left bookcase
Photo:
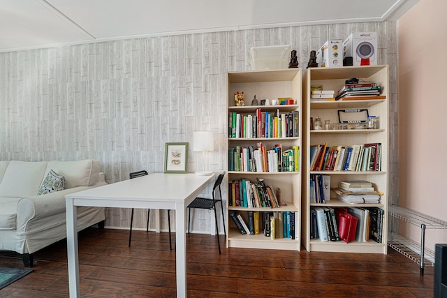
<svg viewBox="0 0 447 298"><path fill-rule="evenodd" d="M223 216L222 193L221 193L221 183L222 183L223 176L225 176L225 172L223 172L222 174L219 174L219 176L217 177L216 181L214 182L214 186L212 188L212 199L210 199L210 198L195 198L191 202L191 204L189 204L189 206L187 207L189 209L189 213L188 213L188 232L190 231L190 228L191 228L191 208L214 210L214 218L215 218L215 221L216 221L217 244L219 245L219 254L221 253L221 244L220 244L220 241L219 241L219 228L218 228L218 225L217 225L217 212L216 212L216 203L217 202L221 203L221 212L222 212L222 221L223 221L223 233L225 234L225 237L226 237L225 217ZM217 188L219 188L219 199L216 198L217 195L214 195L214 193L216 192Z"/></svg>

